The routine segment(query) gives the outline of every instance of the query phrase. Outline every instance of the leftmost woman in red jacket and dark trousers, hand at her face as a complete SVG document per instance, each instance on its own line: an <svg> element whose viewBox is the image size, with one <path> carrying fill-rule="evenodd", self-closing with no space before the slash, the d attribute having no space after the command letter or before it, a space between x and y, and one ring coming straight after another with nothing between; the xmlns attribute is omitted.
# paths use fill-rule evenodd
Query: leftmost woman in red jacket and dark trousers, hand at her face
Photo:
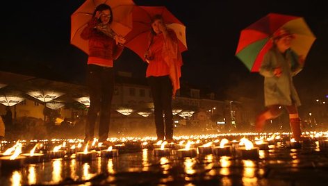
<svg viewBox="0 0 328 186"><path fill-rule="evenodd" d="M123 37L110 28L113 13L110 6L97 6L92 19L81 37L89 40L87 85L90 94L90 108L85 126L85 142L95 135L95 122L99 112L99 142L109 144L107 140L110 124L110 106L114 90L113 62L123 51Z"/></svg>

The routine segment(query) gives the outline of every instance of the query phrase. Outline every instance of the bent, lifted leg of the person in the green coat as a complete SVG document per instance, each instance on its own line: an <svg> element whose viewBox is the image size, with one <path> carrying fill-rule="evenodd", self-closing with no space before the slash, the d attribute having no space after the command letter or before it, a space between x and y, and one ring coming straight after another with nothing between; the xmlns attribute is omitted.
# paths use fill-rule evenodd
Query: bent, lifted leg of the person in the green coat
<svg viewBox="0 0 328 186"><path fill-rule="evenodd" d="M279 105L268 106L261 114L257 115L255 121L255 130L261 132L268 119L274 119L281 114L281 107Z"/></svg>

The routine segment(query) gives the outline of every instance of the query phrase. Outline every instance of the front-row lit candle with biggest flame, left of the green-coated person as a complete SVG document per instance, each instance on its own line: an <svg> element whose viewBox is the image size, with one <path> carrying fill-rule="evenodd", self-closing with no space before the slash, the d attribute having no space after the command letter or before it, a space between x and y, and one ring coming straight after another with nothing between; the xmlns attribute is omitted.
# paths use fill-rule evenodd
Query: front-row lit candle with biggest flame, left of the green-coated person
<svg viewBox="0 0 328 186"><path fill-rule="evenodd" d="M259 159L259 147L254 147L253 143L245 138L240 140L245 146L236 149L237 156L242 159Z"/></svg>

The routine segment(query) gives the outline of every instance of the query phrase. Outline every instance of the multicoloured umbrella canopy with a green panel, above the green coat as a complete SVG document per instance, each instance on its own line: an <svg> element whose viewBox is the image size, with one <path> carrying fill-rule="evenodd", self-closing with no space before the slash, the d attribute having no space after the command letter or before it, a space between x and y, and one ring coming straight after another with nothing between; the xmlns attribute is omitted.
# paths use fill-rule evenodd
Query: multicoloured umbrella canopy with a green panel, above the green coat
<svg viewBox="0 0 328 186"><path fill-rule="evenodd" d="M259 71L264 54L272 47L271 37L279 28L285 28L295 35L291 49L306 58L315 36L304 19L270 13L240 33L236 56L249 71Z"/></svg>

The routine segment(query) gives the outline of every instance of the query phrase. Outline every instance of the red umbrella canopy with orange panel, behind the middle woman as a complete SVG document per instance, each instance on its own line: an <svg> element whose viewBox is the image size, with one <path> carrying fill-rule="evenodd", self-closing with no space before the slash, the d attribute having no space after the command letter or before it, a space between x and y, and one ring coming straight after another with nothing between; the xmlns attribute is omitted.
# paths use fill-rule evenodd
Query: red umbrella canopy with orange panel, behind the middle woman
<svg viewBox="0 0 328 186"><path fill-rule="evenodd" d="M177 17L165 8L165 6L134 6L132 11L133 30L126 35L126 47L134 51L145 60L149 34L151 31L151 18L154 15L162 15L165 24L171 28L179 39L179 50L187 50L186 26Z"/></svg>

